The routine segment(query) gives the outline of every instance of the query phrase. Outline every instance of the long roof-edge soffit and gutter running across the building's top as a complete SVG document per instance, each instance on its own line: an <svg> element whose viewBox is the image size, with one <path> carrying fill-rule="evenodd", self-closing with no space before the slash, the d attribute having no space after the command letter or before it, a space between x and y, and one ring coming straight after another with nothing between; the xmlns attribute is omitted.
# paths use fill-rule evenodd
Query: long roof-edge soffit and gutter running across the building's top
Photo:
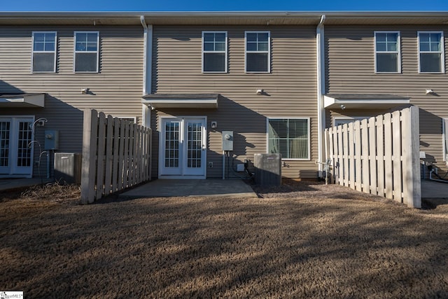
<svg viewBox="0 0 448 299"><path fill-rule="evenodd" d="M448 12L27 12L0 13L0 25L448 25Z"/></svg>

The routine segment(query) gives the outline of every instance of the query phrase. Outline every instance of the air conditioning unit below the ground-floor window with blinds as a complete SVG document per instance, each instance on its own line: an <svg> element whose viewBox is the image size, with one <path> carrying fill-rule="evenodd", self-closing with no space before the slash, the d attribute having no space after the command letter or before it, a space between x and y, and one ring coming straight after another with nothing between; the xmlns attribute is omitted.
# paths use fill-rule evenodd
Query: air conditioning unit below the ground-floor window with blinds
<svg viewBox="0 0 448 299"><path fill-rule="evenodd" d="M255 153L255 182L260 186L281 185L281 154Z"/></svg>

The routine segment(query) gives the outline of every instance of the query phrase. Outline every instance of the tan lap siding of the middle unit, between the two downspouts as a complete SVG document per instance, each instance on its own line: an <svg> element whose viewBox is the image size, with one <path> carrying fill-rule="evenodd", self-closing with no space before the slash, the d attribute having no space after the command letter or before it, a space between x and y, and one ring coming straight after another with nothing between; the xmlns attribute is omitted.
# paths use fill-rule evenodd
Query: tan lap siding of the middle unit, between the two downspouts
<svg viewBox="0 0 448 299"><path fill-rule="evenodd" d="M202 74L202 30L228 31L228 74ZM271 32L272 74L244 73L244 31ZM163 93L219 93L218 109L157 111L165 115L207 116L207 176L222 176L221 131L235 135L237 160L267 151L267 117L311 118L311 159L287 161L284 176L316 178L316 38L314 27L160 27L154 26L153 89ZM255 95L263 89L267 95ZM153 120L153 124L155 125ZM211 121L218 122L216 131ZM155 137L156 138L156 137ZM157 142L158 141L154 141ZM157 162L157 150L153 155ZM157 173L154 163L153 174Z"/></svg>

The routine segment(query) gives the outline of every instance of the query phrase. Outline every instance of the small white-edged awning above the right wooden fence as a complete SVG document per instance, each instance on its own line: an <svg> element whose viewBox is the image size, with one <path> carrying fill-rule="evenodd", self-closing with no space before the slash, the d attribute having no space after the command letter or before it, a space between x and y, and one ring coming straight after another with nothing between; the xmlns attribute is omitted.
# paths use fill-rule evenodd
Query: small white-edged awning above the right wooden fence
<svg viewBox="0 0 448 299"><path fill-rule="evenodd" d="M410 104L409 97L399 95L328 94L323 97L323 106L328 110L391 109L407 104Z"/></svg>

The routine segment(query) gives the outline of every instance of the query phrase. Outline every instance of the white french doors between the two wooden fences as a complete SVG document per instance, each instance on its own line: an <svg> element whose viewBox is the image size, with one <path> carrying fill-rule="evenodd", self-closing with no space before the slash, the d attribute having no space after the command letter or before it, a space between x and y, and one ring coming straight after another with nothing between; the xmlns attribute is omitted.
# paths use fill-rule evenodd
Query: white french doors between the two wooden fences
<svg viewBox="0 0 448 299"><path fill-rule="evenodd" d="M159 176L205 179L205 118L161 118Z"/></svg>

